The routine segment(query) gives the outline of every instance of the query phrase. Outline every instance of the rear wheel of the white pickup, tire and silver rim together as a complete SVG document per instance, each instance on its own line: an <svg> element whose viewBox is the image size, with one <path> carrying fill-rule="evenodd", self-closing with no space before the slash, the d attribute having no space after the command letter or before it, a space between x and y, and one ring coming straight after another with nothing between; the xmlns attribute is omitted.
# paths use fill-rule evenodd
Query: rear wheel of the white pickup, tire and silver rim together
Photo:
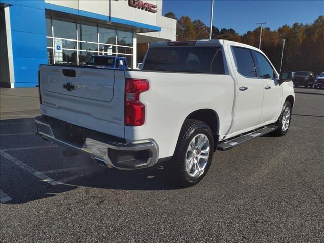
<svg viewBox="0 0 324 243"><path fill-rule="evenodd" d="M173 158L165 166L177 186L197 184L206 175L213 158L214 139L210 127L198 120L185 120Z"/></svg>

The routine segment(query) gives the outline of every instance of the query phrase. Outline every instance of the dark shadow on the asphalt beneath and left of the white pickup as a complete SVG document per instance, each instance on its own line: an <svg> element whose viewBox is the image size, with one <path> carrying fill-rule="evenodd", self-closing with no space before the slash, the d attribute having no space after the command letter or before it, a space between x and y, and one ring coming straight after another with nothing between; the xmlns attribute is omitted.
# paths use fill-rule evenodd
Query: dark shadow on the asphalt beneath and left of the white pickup
<svg viewBox="0 0 324 243"><path fill-rule="evenodd" d="M73 191L79 187L139 191L177 189L171 183L167 173L160 167L134 171L107 169L97 165L88 155L78 154L74 157L69 157L64 154L64 149L61 147L46 148L51 144L33 134L35 131L33 118L0 120L0 127L0 149L19 159L27 167L31 167L36 171L42 171L38 165L43 165L43 170L44 167L51 168L51 170L65 167L87 168L78 172L68 172L68 175L45 173L57 181L62 179L62 177L65 178L77 174L83 175L65 183L50 185L32 175L28 170L26 171L21 166L17 166L13 161L0 156L0 190L11 198L3 202L1 198L2 192L0 191L0 202L4 204L22 204L53 197L63 192ZM30 147L31 149L21 148L22 150L20 150L22 146ZM32 149L32 147L35 147L35 149ZM10 148L14 148L14 150L10 150ZM51 153L51 157L47 156L47 153ZM53 168L53 163L58 164Z"/></svg>

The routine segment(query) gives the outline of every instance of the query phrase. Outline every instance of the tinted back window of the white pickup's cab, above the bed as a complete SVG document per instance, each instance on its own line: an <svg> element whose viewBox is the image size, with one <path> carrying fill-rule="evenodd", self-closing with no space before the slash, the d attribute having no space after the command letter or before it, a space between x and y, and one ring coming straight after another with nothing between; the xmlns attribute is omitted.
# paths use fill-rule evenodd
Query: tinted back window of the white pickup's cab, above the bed
<svg viewBox="0 0 324 243"><path fill-rule="evenodd" d="M150 48L143 70L225 74L221 47Z"/></svg>

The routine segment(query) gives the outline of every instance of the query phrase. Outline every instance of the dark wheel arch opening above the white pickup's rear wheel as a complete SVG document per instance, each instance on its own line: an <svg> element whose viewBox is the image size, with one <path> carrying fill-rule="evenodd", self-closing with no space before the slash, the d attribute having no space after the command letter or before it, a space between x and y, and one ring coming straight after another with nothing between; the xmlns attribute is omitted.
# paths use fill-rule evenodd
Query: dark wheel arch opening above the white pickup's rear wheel
<svg viewBox="0 0 324 243"><path fill-rule="evenodd" d="M214 137L214 151L216 151L219 139L219 117L217 112L212 109L199 109L191 112L186 119L203 121L211 128Z"/></svg>

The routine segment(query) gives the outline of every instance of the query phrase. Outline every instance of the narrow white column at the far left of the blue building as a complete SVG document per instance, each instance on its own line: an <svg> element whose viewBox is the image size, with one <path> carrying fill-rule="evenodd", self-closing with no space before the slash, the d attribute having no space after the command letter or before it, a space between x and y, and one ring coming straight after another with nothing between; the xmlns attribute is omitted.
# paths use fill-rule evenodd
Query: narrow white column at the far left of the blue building
<svg viewBox="0 0 324 243"><path fill-rule="evenodd" d="M7 35L10 88L14 88L15 73L14 73L14 58L13 58L13 54L12 54L11 23L10 23L9 6L5 7L4 10L5 10L5 22L6 22L6 35Z"/></svg>

